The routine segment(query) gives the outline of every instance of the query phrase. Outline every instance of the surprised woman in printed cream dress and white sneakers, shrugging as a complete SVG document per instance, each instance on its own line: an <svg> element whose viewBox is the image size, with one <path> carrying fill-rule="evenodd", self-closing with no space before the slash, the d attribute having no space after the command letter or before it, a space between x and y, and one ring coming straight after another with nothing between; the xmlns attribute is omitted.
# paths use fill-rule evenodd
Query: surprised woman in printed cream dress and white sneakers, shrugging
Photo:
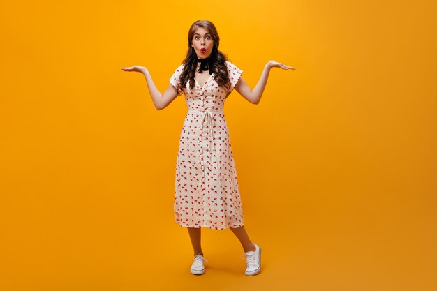
<svg viewBox="0 0 437 291"><path fill-rule="evenodd" d="M201 227L213 230L230 228L244 248L248 276L260 272L261 248L244 229L242 200L228 125L223 114L225 99L235 88L250 103L258 104L271 68L295 69L269 61L258 84L251 89L241 76L243 71L218 50L220 38L214 24L196 21L188 31L188 52L183 64L170 77L163 94L156 88L147 68L132 66L125 71L145 75L149 93L157 110L185 95L188 113L179 139L175 177L175 223L187 227L194 249L191 273L205 273Z"/></svg>

